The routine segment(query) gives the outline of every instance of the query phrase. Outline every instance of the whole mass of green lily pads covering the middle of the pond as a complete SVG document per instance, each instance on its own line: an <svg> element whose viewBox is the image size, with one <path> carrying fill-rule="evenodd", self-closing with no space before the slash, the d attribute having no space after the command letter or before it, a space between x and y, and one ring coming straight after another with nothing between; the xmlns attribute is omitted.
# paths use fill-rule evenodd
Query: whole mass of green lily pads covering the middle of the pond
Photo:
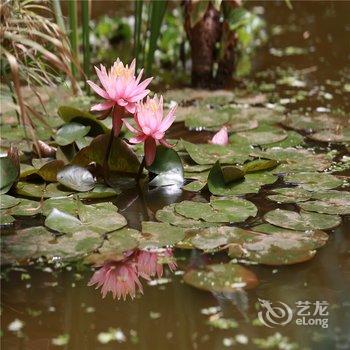
<svg viewBox="0 0 350 350"><path fill-rule="evenodd" d="M177 139L173 149L158 146L142 186L178 186L187 200L158 210L157 221L142 222L140 230L128 227L113 204L125 188L136 186L143 155L139 145L120 137L109 145L108 121L71 106L59 108L60 119L53 119L57 131L41 134L37 157L16 134L18 127L7 127L0 158L1 225L10 228L3 236L4 262L44 256L101 265L135 249L221 251L229 263L191 269L184 280L227 292L257 284L253 272L238 262L309 260L327 242L323 230L350 214L347 177L327 171L349 147L342 117L286 117L267 108L264 95L227 91L174 90L167 100L179 103L176 122L184 123L191 136L225 125L229 143ZM339 152L311 148L307 139L336 143ZM272 210L266 212L259 198ZM34 224L11 232L26 216L35 216Z"/></svg>

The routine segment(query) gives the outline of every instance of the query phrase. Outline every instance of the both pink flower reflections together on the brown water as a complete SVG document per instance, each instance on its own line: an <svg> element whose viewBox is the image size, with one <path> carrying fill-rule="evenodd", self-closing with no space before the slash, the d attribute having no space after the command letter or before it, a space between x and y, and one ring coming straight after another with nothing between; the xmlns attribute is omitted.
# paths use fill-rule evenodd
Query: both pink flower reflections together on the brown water
<svg viewBox="0 0 350 350"><path fill-rule="evenodd" d="M167 263L171 271L175 271L172 249L136 250L124 254L119 261L105 262L92 276L88 286L96 285L101 288L102 297L111 292L113 298L125 300L127 295L133 299L137 290L143 293L140 277L150 280L151 277L160 278L163 275L163 263Z"/></svg>

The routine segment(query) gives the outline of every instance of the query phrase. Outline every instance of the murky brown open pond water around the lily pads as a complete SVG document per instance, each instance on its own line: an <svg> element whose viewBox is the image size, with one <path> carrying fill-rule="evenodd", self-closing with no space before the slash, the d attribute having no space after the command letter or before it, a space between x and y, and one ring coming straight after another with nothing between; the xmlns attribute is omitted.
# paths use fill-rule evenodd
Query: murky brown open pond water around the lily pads
<svg viewBox="0 0 350 350"><path fill-rule="evenodd" d="M349 92L344 92L343 86L349 82L350 73L350 3L293 5L294 9L289 10L284 2L249 4L261 7L267 28L275 35L257 51L247 80L260 86L276 83L281 72L289 68L305 86L274 86L276 98L283 100L287 110L341 108L349 113ZM308 52L279 57L287 46ZM296 98L300 90L308 92L306 98ZM207 136L190 133L182 124L170 132L170 137L192 142ZM148 215L152 215L165 205L193 196L179 189L158 188L146 193L144 200ZM249 196L259 208L259 217L277 207L263 197L261 192ZM137 192L122 193L115 204L129 226L139 228L145 211ZM293 208L293 204L283 208ZM177 250L178 270L172 273L166 269L158 283L144 283L143 295L127 301L113 300L110 295L102 299L99 290L87 286L93 274L87 267L59 263L5 266L1 343L3 349L54 349L59 344L61 348L79 350L350 349L349 231L349 217L343 217L341 226L327 231L330 236L326 246L310 261L292 266L248 266L258 276L258 287L226 294L200 291L183 283L182 272L189 266L227 259L195 250ZM298 325L294 318L286 325L266 327L257 322L259 299L276 305L283 302L293 310L297 302L306 301L311 303L312 311L315 304L326 301L328 316L323 318L328 326ZM20 320L23 327L10 331L8 327L15 320Z"/></svg>

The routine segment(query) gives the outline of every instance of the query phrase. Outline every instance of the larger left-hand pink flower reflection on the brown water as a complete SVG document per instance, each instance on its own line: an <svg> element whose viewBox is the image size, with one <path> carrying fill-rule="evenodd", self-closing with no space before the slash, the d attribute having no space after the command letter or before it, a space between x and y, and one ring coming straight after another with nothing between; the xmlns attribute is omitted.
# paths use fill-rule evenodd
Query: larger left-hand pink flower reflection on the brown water
<svg viewBox="0 0 350 350"><path fill-rule="evenodd" d="M102 286L102 297L112 292L113 299L118 300L129 294L133 299L137 289L142 293L142 285L138 277L136 265L133 261L110 261L97 270L88 283L88 286L97 284L96 289Z"/></svg>

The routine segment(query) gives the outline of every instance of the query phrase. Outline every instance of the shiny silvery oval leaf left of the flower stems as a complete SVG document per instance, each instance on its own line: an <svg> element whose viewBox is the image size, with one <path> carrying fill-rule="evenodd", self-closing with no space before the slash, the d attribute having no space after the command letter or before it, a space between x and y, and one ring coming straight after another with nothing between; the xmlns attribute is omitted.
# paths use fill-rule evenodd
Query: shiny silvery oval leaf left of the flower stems
<svg viewBox="0 0 350 350"><path fill-rule="evenodd" d="M90 171L78 165L65 166L57 173L57 181L79 192L90 191L95 186L95 179Z"/></svg>

